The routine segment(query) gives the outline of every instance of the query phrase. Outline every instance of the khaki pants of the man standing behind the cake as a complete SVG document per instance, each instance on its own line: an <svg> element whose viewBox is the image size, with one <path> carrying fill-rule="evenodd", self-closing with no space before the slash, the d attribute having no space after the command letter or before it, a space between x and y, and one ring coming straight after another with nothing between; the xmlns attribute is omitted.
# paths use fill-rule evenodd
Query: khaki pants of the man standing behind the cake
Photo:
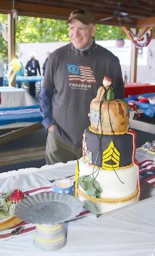
<svg viewBox="0 0 155 256"><path fill-rule="evenodd" d="M72 146L61 139L55 132L48 132L46 145L46 161L48 165L57 162L66 163L81 158L82 148Z"/></svg>

